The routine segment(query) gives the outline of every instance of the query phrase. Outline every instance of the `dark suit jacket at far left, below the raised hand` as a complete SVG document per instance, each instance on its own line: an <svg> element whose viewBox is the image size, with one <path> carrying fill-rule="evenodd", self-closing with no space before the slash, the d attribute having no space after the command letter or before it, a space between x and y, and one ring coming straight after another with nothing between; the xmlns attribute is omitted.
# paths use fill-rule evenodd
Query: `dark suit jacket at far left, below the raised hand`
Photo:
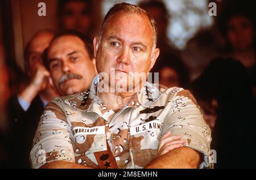
<svg viewBox="0 0 256 180"><path fill-rule="evenodd" d="M10 99L10 131L7 137L10 168L30 168L32 140L43 110L44 105L39 96L31 102L26 112L19 105L17 96Z"/></svg>

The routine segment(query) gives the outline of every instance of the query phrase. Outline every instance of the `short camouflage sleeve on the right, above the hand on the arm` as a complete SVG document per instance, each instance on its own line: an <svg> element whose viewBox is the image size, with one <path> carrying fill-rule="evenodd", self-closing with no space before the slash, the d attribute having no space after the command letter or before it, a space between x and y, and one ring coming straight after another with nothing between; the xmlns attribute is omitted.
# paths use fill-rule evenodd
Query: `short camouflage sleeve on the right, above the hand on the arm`
<svg viewBox="0 0 256 180"><path fill-rule="evenodd" d="M163 134L171 130L173 135L182 135L186 140L185 147L204 154L200 168L209 168L211 131L195 98L189 91L182 90L168 102L167 108L169 111L164 118Z"/></svg>

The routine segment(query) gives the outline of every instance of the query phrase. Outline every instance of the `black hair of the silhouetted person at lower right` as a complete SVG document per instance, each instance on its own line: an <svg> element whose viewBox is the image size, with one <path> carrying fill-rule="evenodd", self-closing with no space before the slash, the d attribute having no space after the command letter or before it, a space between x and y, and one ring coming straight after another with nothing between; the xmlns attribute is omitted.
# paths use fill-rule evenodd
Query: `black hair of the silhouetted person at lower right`
<svg viewBox="0 0 256 180"><path fill-rule="evenodd" d="M191 85L197 100L216 99L220 107L232 108L252 98L249 76L241 62L216 57Z"/></svg>

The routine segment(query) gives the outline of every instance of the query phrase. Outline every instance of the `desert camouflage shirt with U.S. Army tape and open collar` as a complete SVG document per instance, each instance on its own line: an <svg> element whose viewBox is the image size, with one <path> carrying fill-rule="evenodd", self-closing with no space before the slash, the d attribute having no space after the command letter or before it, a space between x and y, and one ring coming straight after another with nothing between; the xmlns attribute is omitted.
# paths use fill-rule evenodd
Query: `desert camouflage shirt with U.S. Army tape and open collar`
<svg viewBox="0 0 256 180"><path fill-rule="evenodd" d="M58 160L98 168L94 153L105 151L107 143L118 168L143 168L168 130L182 135L186 147L203 153L200 168L209 168L210 128L189 91L147 82L114 112L97 96L98 82L96 76L88 91L49 102L30 153L32 168Z"/></svg>

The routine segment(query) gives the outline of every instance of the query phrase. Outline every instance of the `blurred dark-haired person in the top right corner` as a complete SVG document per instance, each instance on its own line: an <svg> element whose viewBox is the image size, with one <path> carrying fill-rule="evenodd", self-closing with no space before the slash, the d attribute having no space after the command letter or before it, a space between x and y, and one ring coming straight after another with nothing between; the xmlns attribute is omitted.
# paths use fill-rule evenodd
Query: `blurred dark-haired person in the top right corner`
<svg viewBox="0 0 256 180"><path fill-rule="evenodd" d="M240 61L249 73L254 98L256 98L256 1L228 1L219 24L226 39L225 57Z"/></svg>

